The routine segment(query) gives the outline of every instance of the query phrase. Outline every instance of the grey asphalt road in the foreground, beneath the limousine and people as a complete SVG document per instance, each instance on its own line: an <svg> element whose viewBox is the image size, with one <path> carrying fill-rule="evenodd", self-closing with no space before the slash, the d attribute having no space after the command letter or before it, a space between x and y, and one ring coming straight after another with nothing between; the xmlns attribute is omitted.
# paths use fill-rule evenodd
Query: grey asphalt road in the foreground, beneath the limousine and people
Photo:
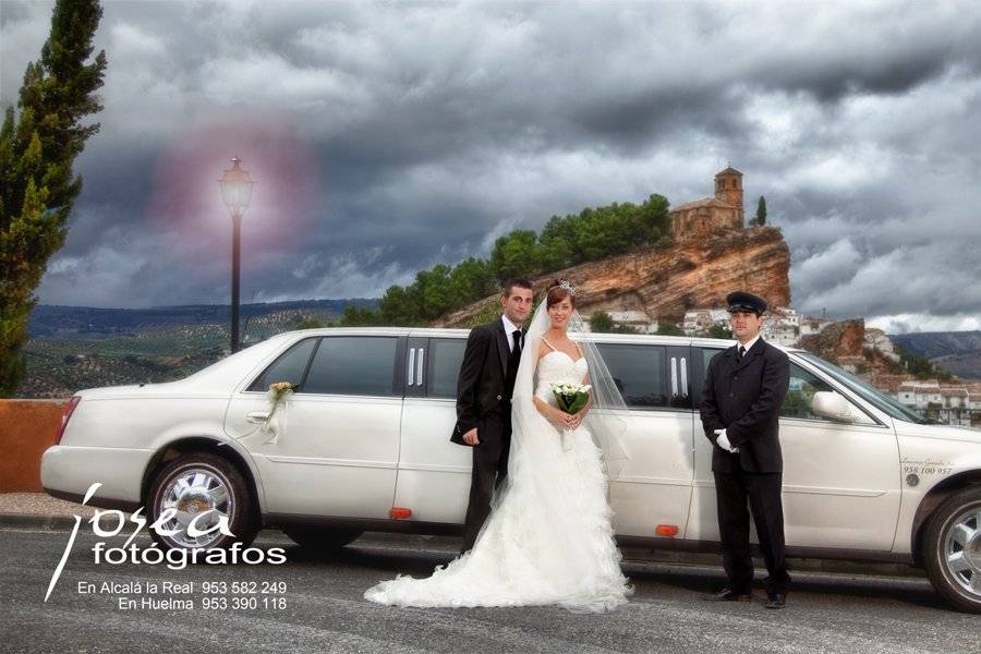
<svg viewBox="0 0 981 654"><path fill-rule="evenodd" d="M362 592L397 573L426 574L451 552L362 540L340 556L315 557L286 540L264 537L256 546L284 547L286 564L171 571L164 565L96 565L90 548L98 540L86 524L44 603L68 538L68 532L0 530L0 652L901 654L974 652L981 642L981 616L947 608L923 579L797 573L789 606L770 611L759 591L754 603L700 601L720 584L717 569L628 562L625 571L637 592L627 607L608 615L556 607L403 609L367 603ZM146 547L148 540L134 543ZM109 544L118 547L122 541ZM104 582L138 582L141 590L101 593ZM194 592L148 592L149 584L160 589L164 582L193 582ZM205 593L206 582L223 582L227 593ZM274 592L233 593L232 582L254 582L257 591L266 583ZM96 593L80 594L80 583L95 584ZM280 583L283 593L275 592ZM124 610L120 597L137 603L190 597L194 607ZM207 597L240 606L205 608Z"/></svg>

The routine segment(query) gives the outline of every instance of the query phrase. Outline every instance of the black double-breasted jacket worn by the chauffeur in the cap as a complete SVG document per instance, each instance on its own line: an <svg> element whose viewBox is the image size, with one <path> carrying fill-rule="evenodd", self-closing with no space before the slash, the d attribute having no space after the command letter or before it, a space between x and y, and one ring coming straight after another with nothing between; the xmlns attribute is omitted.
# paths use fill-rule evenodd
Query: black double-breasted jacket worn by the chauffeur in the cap
<svg viewBox="0 0 981 654"><path fill-rule="evenodd" d="M783 472L780 405L790 380L790 360L762 338L742 361L738 346L719 352L708 363L699 411L705 436L715 445L715 429L726 429L731 455L712 448L713 472ZM738 461L738 465L737 465Z"/></svg>

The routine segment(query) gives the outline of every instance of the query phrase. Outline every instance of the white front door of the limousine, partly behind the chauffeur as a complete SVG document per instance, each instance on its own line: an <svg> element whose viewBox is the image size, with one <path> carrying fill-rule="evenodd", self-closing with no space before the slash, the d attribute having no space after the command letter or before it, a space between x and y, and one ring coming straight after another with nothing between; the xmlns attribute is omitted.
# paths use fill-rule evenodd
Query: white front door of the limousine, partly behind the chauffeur
<svg viewBox="0 0 981 654"><path fill-rule="evenodd" d="M719 351L701 350L701 378ZM835 422L814 414L810 399L827 390L836 388L816 372L791 361L789 389L780 409L787 545L888 550L900 500L896 436L891 426L853 402L853 413L859 416L855 422ZM694 540L718 540L712 447L702 433L695 445Z"/></svg>

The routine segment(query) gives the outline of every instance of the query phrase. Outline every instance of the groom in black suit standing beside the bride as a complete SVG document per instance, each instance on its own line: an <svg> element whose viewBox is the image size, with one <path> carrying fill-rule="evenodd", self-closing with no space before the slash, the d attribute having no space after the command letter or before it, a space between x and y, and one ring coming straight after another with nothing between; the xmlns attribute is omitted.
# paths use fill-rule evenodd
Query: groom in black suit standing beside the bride
<svg viewBox="0 0 981 654"><path fill-rule="evenodd" d="M450 440L473 448L461 553L473 547L491 512L494 488L508 473L511 395L524 344L521 325L532 308L531 282L512 279L505 284L500 308L499 319L470 331L457 380L457 424Z"/></svg>

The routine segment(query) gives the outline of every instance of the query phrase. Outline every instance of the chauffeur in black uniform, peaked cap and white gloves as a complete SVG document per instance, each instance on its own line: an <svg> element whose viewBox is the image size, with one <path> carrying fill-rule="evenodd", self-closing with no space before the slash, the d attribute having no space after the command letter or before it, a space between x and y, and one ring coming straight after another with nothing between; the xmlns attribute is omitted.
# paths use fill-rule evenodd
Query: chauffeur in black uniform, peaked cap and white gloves
<svg viewBox="0 0 981 654"><path fill-rule="evenodd" d="M699 407L705 436L714 444L712 472L729 580L708 598L750 600L753 559L749 500L770 573L764 582L765 606L783 608L790 577L784 558L784 461L778 429L790 364L787 354L760 338L765 301L738 291L730 293L726 302L738 343L712 358Z"/></svg>

